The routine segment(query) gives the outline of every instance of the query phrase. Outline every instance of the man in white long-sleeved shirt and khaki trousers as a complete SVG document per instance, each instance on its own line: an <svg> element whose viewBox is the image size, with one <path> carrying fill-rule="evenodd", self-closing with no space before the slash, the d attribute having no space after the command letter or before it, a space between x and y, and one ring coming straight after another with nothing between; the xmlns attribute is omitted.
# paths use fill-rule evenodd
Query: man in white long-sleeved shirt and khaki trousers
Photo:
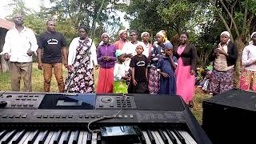
<svg viewBox="0 0 256 144"><path fill-rule="evenodd" d="M20 90L23 77L25 91L32 91L32 54L38 50L34 32L23 26L22 14L14 14L14 28L6 34L3 46L4 59L10 61L11 90Z"/></svg>

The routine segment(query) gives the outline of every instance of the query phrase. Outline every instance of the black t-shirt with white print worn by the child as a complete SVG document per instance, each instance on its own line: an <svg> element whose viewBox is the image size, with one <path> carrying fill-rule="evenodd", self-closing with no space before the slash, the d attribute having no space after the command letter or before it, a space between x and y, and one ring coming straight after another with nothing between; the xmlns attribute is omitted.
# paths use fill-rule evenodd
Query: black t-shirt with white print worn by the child
<svg viewBox="0 0 256 144"><path fill-rule="evenodd" d="M146 56L135 55L130 60L130 67L134 67L134 77L137 82L146 82L146 66L148 65Z"/></svg>

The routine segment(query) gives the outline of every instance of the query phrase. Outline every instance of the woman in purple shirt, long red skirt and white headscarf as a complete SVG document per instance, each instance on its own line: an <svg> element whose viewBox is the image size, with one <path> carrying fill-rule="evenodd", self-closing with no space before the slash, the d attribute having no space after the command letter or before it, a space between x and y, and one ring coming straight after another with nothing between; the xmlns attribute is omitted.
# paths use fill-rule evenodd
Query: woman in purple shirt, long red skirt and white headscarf
<svg viewBox="0 0 256 144"><path fill-rule="evenodd" d="M96 93L113 93L115 46L109 42L110 34L102 34L102 45L98 46L97 59L100 66Z"/></svg>

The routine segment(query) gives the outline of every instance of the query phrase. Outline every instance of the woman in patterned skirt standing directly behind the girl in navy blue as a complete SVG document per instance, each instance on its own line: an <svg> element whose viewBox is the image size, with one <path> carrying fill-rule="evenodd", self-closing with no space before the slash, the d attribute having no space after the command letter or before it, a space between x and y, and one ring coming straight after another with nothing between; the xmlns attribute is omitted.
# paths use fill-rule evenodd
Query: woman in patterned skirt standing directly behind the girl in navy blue
<svg viewBox="0 0 256 144"><path fill-rule="evenodd" d="M156 68L158 64L158 60L162 58L162 54L164 54L163 48L166 43L170 44L170 48L172 48L172 44L170 42L166 42L165 35L159 31L155 36L156 42L154 44L154 49L151 52L151 62L150 62L150 73L149 73L149 90L150 94L158 94L158 90L160 87L160 74Z"/></svg>

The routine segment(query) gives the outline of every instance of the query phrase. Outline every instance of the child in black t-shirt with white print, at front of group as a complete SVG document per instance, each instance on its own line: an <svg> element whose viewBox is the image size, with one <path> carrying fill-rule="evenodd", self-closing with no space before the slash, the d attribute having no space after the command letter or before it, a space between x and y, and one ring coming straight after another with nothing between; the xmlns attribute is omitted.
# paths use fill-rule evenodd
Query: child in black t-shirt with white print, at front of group
<svg viewBox="0 0 256 144"><path fill-rule="evenodd" d="M136 47L137 55L130 60L131 78L128 93L132 94L147 94L147 58L142 54L143 46Z"/></svg>

